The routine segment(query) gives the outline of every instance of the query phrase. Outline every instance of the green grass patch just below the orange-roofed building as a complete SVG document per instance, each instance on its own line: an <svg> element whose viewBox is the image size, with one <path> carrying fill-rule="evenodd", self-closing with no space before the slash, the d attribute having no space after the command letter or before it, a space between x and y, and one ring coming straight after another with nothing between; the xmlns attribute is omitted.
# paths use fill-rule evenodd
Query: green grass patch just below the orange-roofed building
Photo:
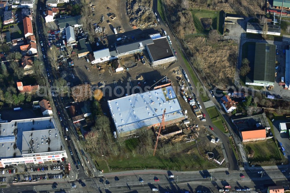
<svg viewBox="0 0 290 193"><path fill-rule="evenodd" d="M270 161L272 158L277 161L281 160L279 149L273 139L246 144L246 154L248 154L251 149L253 149L255 153L253 158L249 158L249 161Z"/></svg>

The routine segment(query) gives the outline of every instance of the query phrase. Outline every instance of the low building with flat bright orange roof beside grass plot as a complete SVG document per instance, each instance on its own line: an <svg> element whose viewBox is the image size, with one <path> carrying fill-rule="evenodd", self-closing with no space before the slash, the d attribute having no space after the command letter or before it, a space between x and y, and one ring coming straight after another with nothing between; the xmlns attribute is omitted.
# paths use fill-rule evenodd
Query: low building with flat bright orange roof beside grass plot
<svg viewBox="0 0 290 193"><path fill-rule="evenodd" d="M249 130L240 131L242 141L257 141L266 139L266 129L265 128L253 128Z"/></svg>

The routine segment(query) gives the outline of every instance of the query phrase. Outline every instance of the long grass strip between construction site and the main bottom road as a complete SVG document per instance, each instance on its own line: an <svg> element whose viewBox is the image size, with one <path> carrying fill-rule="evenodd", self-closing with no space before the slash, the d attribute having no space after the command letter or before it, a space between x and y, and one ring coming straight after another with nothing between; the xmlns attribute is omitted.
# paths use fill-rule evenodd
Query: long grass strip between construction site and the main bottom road
<svg viewBox="0 0 290 193"><path fill-rule="evenodd" d="M106 157L96 159L96 167L99 170L104 170L104 172L109 172L109 167L112 172L120 170L143 170L143 169L164 169L164 170L182 170L190 171L197 170L201 168L214 168L215 164L206 161L198 153L195 142L186 143L182 145L180 154L177 154L175 149L172 149L168 154L160 154L157 150L155 156L153 155L139 155L136 153L135 157L132 155L131 151L135 150L137 152L137 145L139 143L138 138L129 139L125 141L126 149L123 155L119 154L117 156L112 155L112 157L106 159ZM189 151L190 150L190 151ZM128 155L128 158L127 158ZM106 161L104 161L106 159Z"/></svg>

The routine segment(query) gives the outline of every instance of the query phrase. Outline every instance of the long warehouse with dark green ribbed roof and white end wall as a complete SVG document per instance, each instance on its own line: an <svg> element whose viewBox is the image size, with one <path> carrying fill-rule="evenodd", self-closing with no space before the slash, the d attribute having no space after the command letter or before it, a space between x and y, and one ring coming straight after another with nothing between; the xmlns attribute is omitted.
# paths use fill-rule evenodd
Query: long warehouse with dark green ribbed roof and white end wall
<svg viewBox="0 0 290 193"><path fill-rule="evenodd" d="M247 74L246 85L274 85L275 62L276 45L269 43L256 43L254 68L251 68L250 73Z"/></svg>

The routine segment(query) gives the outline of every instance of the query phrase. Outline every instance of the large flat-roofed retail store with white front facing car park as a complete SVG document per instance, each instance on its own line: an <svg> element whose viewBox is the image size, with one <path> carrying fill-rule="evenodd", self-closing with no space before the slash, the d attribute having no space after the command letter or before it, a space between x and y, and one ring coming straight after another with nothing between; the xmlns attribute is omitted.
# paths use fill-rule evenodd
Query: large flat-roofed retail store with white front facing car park
<svg viewBox="0 0 290 193"><path fill-rule="evenodd" d="M53 117L0 123L0 167L43 164L67 158Z"/></svg>

